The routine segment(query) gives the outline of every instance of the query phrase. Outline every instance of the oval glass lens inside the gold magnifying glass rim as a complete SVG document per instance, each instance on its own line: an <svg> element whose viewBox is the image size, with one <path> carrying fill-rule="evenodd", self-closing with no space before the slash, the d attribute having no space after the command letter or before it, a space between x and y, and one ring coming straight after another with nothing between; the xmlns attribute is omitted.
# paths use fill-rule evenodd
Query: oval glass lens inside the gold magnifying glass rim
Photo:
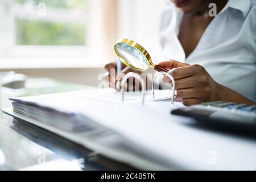
<svg viewBox="0 0 256 182"><path fill-rule="evenodd" d="M124 43L115 44L115 51L121 60L129 67L145 70L148 68L147 58L136 48Z"/></svg>

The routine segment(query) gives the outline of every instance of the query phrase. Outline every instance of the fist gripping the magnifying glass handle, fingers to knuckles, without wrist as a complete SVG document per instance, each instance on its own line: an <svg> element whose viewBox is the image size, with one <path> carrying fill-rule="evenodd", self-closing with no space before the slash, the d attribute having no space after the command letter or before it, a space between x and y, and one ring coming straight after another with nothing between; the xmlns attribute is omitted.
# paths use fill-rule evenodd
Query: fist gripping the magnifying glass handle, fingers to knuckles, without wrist
<svg viewBox="0 0 256 182"><path fill-rule="evenodd" d="M214 100L216 93L216 82L210 77L209 73L201 65L177 64L175 61L166 61L159 65L175 68L168 73L175 80L177 98L182 98L184 105L195 105L205 101ZM167 76L163 77L163 82L170 83Z"/></svg>

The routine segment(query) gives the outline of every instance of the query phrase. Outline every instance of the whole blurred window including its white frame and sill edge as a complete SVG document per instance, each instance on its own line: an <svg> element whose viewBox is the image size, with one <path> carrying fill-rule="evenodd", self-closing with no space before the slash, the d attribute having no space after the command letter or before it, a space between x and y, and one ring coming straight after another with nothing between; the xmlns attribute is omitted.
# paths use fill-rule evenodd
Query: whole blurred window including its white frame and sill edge
<svg viewBox="0 0 256 182"><path fill-rule="evenodd" d="M88 0L1 0L2 55L86 54ZM32 53L31 53L32 52ZM72 53L71 53L72 54Z"/></svg>

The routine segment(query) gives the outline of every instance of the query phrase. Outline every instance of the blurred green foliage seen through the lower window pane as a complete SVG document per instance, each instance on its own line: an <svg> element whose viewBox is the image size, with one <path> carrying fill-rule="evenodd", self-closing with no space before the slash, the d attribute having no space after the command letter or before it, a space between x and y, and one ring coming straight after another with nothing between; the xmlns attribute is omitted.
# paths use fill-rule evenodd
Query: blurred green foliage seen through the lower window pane
<svg viewBox="0 0 256 182"><path fill-rule="evenodd" d="M83 46L85 44L85 26L16 19L16 44Z"/></svg>

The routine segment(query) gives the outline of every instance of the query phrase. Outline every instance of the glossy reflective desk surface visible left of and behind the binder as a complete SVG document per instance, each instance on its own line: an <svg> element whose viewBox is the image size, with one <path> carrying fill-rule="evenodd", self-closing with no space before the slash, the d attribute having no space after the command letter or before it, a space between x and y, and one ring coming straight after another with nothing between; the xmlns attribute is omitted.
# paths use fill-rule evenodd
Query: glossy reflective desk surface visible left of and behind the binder
<svg viewBox="0 0 256 182"><path fill-rule="evenodd" d="M48 84L47 84L48 82ZM51 84L49 84L51 82ZM33 84L34 83L34 84ZM48 85L43 86L43 85ZM2 92L3 106L7 97L34 96L71 90L90 89L85 85L47 79L30 79L26 89ZM18 94L17 94L18 93ZM131 170L126 164L97 155L76 143L40 129L27 122L18 121L0 113L0 170L17 169L68 169L68 170Z"/></svg>

